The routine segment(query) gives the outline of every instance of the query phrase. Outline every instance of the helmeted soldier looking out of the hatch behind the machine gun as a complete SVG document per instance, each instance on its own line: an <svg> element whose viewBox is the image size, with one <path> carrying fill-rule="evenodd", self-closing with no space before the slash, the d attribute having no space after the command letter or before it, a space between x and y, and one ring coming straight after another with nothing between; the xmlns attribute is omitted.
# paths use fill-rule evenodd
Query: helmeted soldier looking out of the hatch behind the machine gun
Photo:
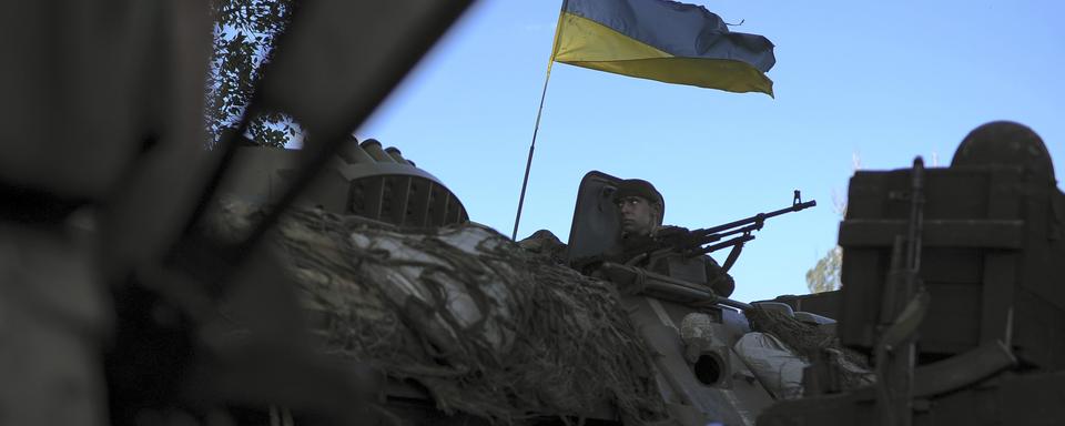
<svg viewBox="0 0 1065 426"><path fill-rule="evenodd" d="M646 244L662 234L683 232L677 226L662 226L662 214L666 211L666 201L662 194L650 182L640 179L623 180L618 183L613 193L613 201L618 205L618 222L621 224L621 248ZM677 256L677 255L671 255ZM732 277L724 272L710 256L700 257L706 270L706 284L716 294L728 297L736 288ZM651 265L641 265L648 270L669 275L669 260L655 262Z"/></svg>

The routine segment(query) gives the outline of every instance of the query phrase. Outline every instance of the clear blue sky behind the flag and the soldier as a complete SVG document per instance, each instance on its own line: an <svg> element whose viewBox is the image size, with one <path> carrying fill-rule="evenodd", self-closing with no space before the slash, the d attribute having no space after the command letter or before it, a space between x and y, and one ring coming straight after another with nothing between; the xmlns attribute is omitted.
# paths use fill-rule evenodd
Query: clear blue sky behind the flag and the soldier
<svg viewBox="0 0 1065 426"><path fill-rule="evenodd" d="M835 245L833 196L855 156L866 170L945 165L973 128L1014 120L1065 173L1059 2L696 3L773 41L777 98L555 64L519 239L566 241L591 170L653 182L666 222L687 227L785 206L799 189L819 206L770 222L732 270L733 298L771 298L807 293L807 270ZM509 235L559 7L475 3L356 135L399 148Z"/></svg>

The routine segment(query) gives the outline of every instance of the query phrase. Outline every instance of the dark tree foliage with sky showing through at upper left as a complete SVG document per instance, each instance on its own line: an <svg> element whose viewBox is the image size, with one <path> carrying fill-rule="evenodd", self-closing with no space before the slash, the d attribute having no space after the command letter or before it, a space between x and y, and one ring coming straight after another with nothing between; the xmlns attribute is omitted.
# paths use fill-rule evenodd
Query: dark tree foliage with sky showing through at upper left
<svg viewBox="0 0 1065 426"><path fill-rule="evenodd" d="M217 143L236 130L252 100L262 65L270 61L276 38L287 28L297 0L212 0L214 49L206 87L205 121ZM246 132L254 143L284 146L298 125L281 113L256 115Z"/></svg>

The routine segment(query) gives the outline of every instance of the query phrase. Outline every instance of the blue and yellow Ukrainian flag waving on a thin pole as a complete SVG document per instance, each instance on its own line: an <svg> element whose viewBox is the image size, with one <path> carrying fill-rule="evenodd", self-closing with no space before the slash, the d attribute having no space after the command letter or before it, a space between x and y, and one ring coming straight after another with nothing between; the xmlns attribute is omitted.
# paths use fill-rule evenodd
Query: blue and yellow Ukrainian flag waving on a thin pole
<svg viewBox="0 0 1065 426"><path fill-rule="evenodd" d="M706 8L669 0L566 0L552 60L622 75L773 95L773 43L730 32Z"/></svg>

